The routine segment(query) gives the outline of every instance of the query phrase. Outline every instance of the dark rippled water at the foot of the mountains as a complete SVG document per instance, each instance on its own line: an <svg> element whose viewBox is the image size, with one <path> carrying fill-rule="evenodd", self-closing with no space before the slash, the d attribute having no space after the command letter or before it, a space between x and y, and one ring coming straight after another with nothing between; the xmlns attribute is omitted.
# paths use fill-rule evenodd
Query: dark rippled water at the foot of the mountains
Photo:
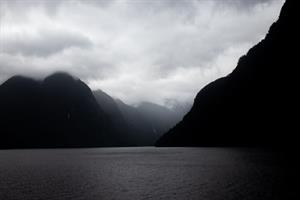
<svg viewBox="0 0 300 200"><path fill-rule="evenodd" d="M0 199L289 199L284 170L255 149L0 150Z"/></svg>

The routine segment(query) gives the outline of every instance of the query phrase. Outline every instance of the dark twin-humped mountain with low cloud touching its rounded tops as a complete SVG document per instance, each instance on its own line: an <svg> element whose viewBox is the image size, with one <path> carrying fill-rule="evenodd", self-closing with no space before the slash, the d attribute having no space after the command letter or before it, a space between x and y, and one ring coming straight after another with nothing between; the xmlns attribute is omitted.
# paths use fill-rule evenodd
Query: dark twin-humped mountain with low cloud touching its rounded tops
<svg viewBox="0 0 300 200"><path fill-rule="evenodd" d="M111 121L81 80L14 76L0 86L0 148L119 145Z"/></svg>

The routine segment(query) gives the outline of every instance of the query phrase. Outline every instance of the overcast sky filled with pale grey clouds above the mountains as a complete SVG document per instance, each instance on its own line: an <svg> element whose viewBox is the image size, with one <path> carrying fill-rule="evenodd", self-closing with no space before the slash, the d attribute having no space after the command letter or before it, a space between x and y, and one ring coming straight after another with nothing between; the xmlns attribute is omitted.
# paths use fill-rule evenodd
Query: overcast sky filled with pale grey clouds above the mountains
<svg viewBox="0 0 300 200"><path fill-rule="evenodd" d="M230 73L283 0L0 0L0 83L67 71L133 104L192 101Z"/></svg>

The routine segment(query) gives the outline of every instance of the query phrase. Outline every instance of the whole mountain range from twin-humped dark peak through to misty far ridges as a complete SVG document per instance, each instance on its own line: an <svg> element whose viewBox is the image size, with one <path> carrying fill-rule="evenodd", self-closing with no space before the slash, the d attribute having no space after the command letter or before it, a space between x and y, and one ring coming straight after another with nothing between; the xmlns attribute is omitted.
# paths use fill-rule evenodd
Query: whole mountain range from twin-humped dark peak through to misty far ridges
<svg viewBox="0 0 300 200"><path fill-rule="evenodd" d="M180 120L156 107L126 105L67 73L40 81L14 76L0 85L0 148L154 145ZM161 114L168 118L152 121Z"/></svg>

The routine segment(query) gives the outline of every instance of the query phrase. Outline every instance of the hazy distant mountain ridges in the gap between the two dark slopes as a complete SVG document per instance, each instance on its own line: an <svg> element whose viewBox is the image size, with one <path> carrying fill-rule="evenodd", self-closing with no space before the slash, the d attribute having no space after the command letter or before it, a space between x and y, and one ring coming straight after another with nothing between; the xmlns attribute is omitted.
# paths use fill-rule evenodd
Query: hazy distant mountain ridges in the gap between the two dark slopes
<svg viewBox="0 0 300 200"><path fill-rule="evenodd" d="M104 112L113 119L113 126L123 133L123 140L129 138L127 143L133 146L153 146L156 140L185 114L183 108L175 112L150 102L130 106L120 99L113 99L101 90L93 93Z"/></svg>

